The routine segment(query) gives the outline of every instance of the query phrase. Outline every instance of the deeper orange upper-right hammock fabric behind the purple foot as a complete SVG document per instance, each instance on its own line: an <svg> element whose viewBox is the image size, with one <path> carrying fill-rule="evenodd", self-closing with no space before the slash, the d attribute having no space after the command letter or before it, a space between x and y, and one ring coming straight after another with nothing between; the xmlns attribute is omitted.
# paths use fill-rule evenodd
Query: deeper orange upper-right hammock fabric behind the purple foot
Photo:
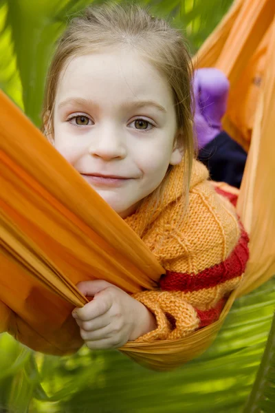
<svg viewBox="0 0 275 413"><path fill-rule="evenodd" d="M230 81L223 126L245 149L267 70L274 0L236 0L195 56L195 67L217 67Z"/></svg>

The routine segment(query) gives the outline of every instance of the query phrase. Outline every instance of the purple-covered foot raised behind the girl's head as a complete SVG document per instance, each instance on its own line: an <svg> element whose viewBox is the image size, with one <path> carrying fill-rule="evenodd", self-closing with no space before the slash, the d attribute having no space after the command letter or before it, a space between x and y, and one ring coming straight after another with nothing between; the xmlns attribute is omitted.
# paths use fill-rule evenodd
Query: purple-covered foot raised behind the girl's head
<svg viewBox="0 0 275 413"><path fill-rule="evenodd" d="M203 68L195 71L195 134L201 149L221 131L221 118L225 114L229 81L218 69Z"/></svg>

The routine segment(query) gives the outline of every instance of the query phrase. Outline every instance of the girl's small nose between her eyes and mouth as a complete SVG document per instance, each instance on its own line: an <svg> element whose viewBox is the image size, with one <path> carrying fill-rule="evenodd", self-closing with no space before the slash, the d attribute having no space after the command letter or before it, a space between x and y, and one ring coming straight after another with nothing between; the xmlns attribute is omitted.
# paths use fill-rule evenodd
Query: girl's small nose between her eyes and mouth
<svg viewBox="0 0 275 413"><path fill-rule="evenodd" d="M89 154L103 160L123 159L126 156L126 141L120 128L102 127L95 131L89 145Z"/></svg>

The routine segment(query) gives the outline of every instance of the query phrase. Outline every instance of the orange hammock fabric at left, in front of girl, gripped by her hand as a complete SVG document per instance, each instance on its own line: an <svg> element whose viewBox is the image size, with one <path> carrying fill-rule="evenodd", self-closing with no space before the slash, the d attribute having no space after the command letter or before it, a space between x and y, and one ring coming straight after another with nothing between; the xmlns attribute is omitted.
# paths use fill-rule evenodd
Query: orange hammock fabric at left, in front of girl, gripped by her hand
<svg viewBox="0 0 275 413"><path fill-rule="evenodd" d="M35 350L72 352L83 341L71 311L87 302L78 282L100 278L136 293L164 269L2 92L0 112L0 332Z"/></svg>

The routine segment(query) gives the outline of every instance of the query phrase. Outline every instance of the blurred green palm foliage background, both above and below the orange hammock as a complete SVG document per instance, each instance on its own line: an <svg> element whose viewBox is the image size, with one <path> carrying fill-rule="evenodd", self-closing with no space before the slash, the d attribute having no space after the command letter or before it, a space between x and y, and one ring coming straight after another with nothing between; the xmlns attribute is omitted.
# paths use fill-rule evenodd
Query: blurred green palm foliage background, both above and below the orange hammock
<svg viewBox="0 0 275 413"><path fill-rule="evenodd" d="M0 0L1 89L38 127L54 43L69 17L91 3L103 1ZM195 54L232 0L138 3L172 19ZM271 279L236 301L205 354L168 373L145 370L118 351L44 356L0 335L0 413L274 412L274 370L265 374L274 357L267 341L274 302Z"/></svg>

